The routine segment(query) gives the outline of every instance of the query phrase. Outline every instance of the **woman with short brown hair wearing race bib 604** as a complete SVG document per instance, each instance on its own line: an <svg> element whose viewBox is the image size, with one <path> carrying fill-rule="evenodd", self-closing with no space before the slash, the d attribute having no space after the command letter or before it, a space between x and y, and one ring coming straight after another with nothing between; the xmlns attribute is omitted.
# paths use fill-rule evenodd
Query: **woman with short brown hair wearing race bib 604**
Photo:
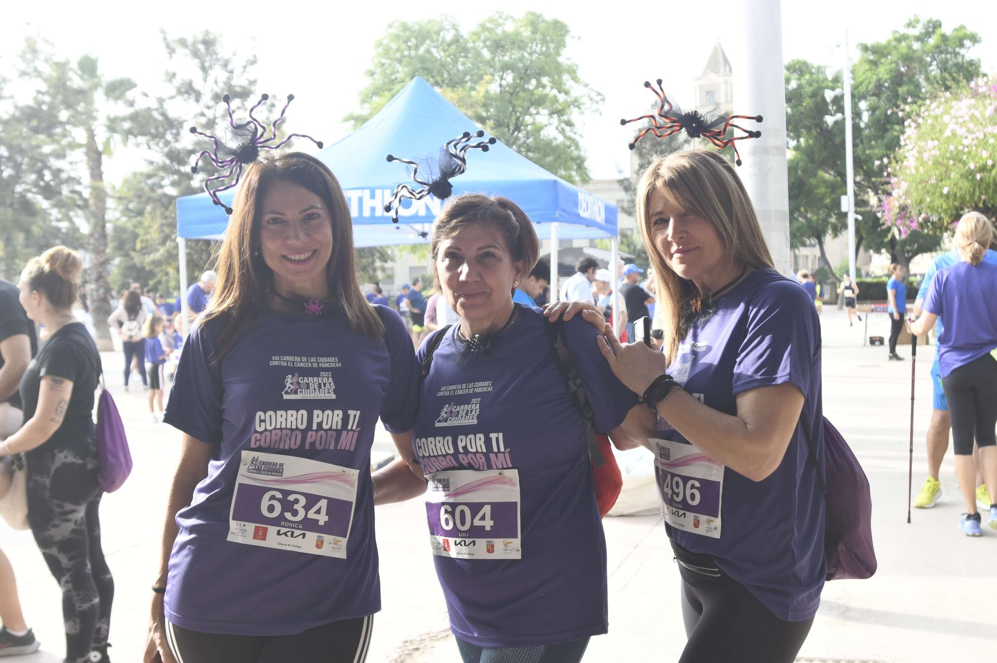
<svg viewBox="0 0 997 663"><path fill-rule="evenodd" d="M401 459L374 476L378 504L426 494L465 663L576 663L588 639L607 631L585 422L542 312L512 303L538 250L532 223L505 198L461 196L438 217L432 272L460 323L420 348L413 435L396 436ZM563 334L595 430L636 446L624 432L636 398L599 356L598 332L579 320Z"/></svg>

